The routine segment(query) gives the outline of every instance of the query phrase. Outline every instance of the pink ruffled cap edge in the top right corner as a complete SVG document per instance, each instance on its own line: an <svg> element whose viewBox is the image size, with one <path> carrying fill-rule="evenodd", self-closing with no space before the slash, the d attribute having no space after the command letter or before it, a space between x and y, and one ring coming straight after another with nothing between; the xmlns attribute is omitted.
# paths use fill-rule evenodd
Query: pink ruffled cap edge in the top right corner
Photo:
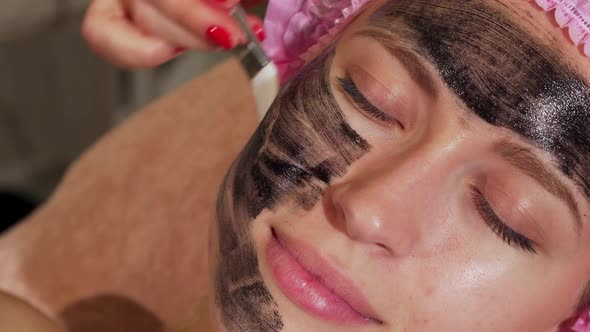
<svg viewBox="0 0 590 332"><path fill-rule="evenodd" d="M545 11L554 11L560 27L567 29L576 46L583 46L590 57L590 1L589 0L535 0ZM590 330L589 330L590 331Z"/></svg>

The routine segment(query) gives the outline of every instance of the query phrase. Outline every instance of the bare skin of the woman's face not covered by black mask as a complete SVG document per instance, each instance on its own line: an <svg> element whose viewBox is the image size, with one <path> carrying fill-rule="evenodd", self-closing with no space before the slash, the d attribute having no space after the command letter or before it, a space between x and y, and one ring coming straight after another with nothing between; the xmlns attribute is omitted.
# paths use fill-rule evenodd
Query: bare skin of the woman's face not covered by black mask
<svg viewBox="0 0 590 332"><path fill-rule="evenodd" d="M568 65L590 79L588 59L541 11L528 2L485 2L559 45ZM399 57L356 35L379 5L347 28L328 61L338 106L370 151L332 179L313 206L285 199L250 224L260 275L283 324L278 330L557 331L574 314L590 275L588 198L538 146L466 112L440 76L437 93L428 93ZM339 88L338 78L347 74L387 121L372 117ZM579 235L567 202L498 153L510 148L530 152L559 174L579 209ZM476 198L482 196L487 203ZM484 218L489 207L530 241L504 241ZM212 228L218 246L224 234ZM312 248L352 280L369 302L373 321L338 323L297 305L273 274L277 263L267 255L273 230ZM215 270L218 257L212 258ZM219 329L238 330L222 323L223 308L217 311Z"/></svg>

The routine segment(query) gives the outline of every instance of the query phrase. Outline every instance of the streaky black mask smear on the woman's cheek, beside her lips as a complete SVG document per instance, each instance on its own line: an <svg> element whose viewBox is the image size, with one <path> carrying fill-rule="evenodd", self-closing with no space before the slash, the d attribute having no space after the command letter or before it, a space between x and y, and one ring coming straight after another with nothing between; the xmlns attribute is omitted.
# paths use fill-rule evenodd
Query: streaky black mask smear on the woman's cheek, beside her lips
<svg viewBox="0 0 590 332"><path fill-rule="evenodd" d="M282 202L311 209L328 184L370 149L344 120L330 91L331 53L284 89L221 188L216 302L231 332L283 328L258 269L250 222Z"/></svg>

